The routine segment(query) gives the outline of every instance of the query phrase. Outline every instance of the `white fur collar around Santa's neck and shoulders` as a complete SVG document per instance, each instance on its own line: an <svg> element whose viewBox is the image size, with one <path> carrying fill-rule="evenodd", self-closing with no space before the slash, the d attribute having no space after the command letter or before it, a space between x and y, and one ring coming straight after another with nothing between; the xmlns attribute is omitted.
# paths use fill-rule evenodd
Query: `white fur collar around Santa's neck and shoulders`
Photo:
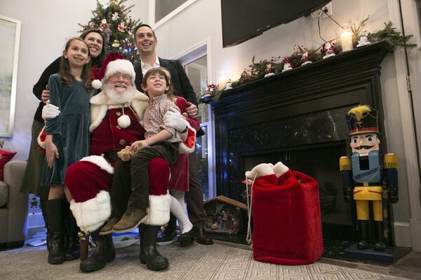
<svg viewBox="0 0 421 280"><path fill-rule="evenodd" d="M136 90L131 106L136 112L136 115L138 115L139 120L143 119L143 113L147 109L148 101L149 97L146 94ZM89 132L93 132L102 123L102 120L107 115L108 109L112 106L114 107L115 105L112 104L112 101L109 100L105 92L100 92L91 98L91 125L89 126Z"/></svg>

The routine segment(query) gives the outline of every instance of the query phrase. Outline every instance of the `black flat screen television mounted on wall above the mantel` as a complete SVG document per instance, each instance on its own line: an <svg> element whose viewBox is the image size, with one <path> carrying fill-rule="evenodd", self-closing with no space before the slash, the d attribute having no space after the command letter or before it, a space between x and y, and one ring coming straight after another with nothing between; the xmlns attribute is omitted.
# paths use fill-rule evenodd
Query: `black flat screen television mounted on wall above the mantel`
<svg viewBox="0 0 421 280"><path fill-rule="evenodd" d="M243 43L267 29L309 15L331 0L221 0L222 45Z"/></svg>

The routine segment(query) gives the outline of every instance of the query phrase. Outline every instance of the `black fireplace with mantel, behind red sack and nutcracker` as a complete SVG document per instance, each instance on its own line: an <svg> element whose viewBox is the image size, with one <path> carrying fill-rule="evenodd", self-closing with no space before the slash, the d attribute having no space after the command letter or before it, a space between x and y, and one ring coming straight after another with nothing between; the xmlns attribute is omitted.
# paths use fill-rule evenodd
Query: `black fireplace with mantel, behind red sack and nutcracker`
<svg viewBox="0 0 421 280"><path fill-rule="evenodd" d="M282 161L319 182L323 238L354 239L354 210L344 202L339 171L340 156L350 155L345 115L368 104L379 111L384 131L380 63L390 51L387 43L374 43L209 100L215 113L217 195L245 202L244 172ZM387 151L386 139L381 144Z"/></svg>

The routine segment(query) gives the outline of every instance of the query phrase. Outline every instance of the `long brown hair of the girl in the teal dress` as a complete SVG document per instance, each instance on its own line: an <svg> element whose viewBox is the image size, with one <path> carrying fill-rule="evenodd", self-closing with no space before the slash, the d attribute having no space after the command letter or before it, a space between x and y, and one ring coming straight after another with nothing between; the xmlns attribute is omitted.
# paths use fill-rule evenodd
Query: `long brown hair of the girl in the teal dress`
<svg viewBox="0 0 421 280"><path fill-rule="evenodd" d="M69 38L69 40L67 40L67 43L66 43L66 46L65 46L65 50L66 51L69 50L70 44L72 43L72 41L75 41L75 40L81 41L81 42L83 42L86 45L86 48L88 49L88 55L89 55L88 45L80 37ZM75 80L75 78L72 75L72 73L70 73L69 59L65 58L65 55L64 54L61 57L60 70L59 70L58 73L60 74L60 77L62 78L62 80L65 82L66 85L70 85ZM88 62L87 64L83 65L83 70L82 70L82 73L81 73L81 79L82 79L82 85L84 87L86 87L87 90L91 90L92 89L92 84L91 84L91 62Z"/></svg>

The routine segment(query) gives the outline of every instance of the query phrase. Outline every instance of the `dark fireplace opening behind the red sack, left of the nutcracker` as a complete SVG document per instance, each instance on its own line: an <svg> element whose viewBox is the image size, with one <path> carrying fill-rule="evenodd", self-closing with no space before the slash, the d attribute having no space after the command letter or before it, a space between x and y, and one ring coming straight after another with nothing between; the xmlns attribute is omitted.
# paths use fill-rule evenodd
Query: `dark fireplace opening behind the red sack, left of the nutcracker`
<svg viewBox="0 0 421 280"><path fill-rule="evenodd" d="M328 144L285 148L265 153L241 154L243 174L262 162L283 162L291 170L312 176L319 183L319 202L323 239L355 241L355 211L352 203L345 202L339 158L347 155L345 141Z"/></svg>

